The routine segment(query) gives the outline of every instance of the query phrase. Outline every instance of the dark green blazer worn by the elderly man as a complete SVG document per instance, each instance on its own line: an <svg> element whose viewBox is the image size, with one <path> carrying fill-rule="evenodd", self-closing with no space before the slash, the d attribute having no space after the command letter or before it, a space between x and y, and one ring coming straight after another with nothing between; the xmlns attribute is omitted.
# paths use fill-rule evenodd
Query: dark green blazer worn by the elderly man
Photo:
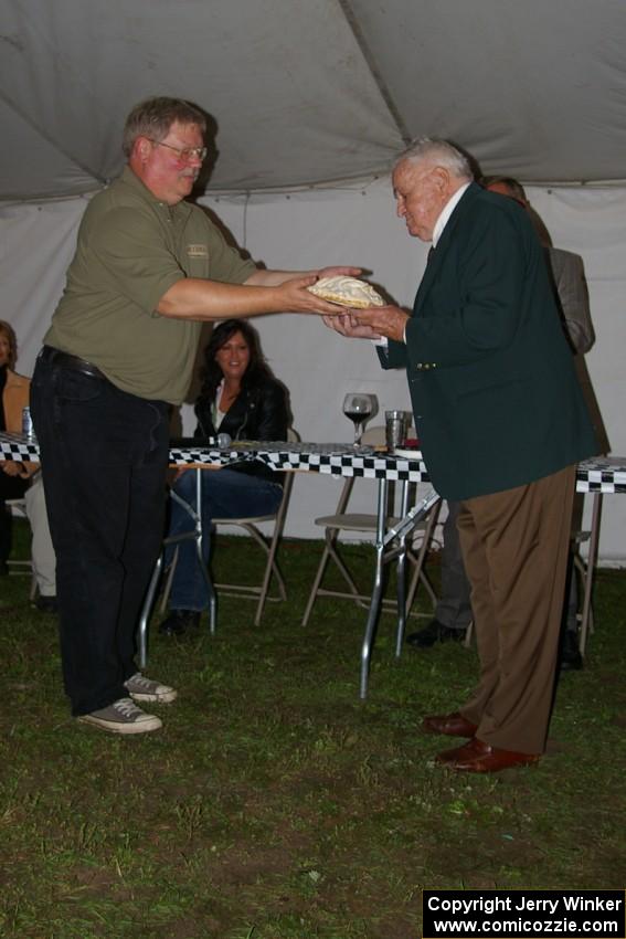
<svg viewBox="0 0 626 939"><path fill-rule="evenodd" d="M432 251L406 345L431 479L448 499L530 483L598 452L527 212L471 183Z"/></svg>

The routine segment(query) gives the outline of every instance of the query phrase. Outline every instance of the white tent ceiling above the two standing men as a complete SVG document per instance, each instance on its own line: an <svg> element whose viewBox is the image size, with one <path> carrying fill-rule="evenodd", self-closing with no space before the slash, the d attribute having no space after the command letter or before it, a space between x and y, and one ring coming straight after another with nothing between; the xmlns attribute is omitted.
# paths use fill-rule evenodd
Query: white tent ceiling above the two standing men
<svg viewBox="0 0 626 939"><path fill-rule="evenodd" d="M624 180L622 0L0 0L0 199L121 167L142 97L216 122L209 189L384 173L423 134L485 172Z"/></svg>

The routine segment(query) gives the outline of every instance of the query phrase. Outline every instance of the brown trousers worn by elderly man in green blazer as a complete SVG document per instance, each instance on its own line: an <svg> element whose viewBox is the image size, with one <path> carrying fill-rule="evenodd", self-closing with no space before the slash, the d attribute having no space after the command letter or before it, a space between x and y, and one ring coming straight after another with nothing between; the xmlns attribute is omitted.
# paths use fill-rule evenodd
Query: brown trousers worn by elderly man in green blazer
<svg viewBox="0 0 626 939"><path fill-rule="evenodd" d="M563 612L575 466L460 504L480 680L461 715L479 740L545 748Z"/></svg>

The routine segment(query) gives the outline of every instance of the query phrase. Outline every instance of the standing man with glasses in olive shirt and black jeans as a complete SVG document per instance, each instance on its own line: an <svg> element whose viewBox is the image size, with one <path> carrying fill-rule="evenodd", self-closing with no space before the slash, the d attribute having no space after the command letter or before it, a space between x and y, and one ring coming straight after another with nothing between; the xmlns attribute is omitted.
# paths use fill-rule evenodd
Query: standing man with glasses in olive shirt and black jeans
<svg viewBox="0 0 626 939"><path fill-rule="evenodd" d="M161 726L136 701L177 692L137 672L135 631L163 531L170 405L191 380L202 323L331 314L311 272L262 271L185 202L206 156L204 115L137 105L121 177L89 203L31 388L56 552L65 690L79 720Z"/></svg>

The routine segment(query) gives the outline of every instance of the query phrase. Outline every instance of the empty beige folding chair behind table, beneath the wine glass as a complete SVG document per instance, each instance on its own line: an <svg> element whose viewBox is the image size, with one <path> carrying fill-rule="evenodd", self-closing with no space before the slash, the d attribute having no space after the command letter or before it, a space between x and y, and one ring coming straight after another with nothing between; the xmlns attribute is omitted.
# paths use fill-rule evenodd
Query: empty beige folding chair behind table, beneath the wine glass
<svg viewBox="0 0 626 939"><path fill-rule="evenodd" d="M361 437L361 443L375 446L378 444L383 444L384 440L385 429L383 426L376 426L371 428L370 430L363 433ZM357 481L354 477L350 477L346 481L341 489L341 495L339 496L339 502L337 504L337 508L333 515L325 515L320 518L315 519L315 524L323 528L325 547L309 593L305 614L303 616L303 626L307 625L314 604L318 597L335 597L336 599L341 600L352 600L353 602L358 603L359 606L362 606L364 609L368 609L370 605L371 597L359 591L359 588L354 582L354 578L352 577L352 573L350 572L346 560L339 550L339 536L342 531L358 532L363 536L363 540L369 541L373 541L373 537L376 532L375 515L348 511L350 497L352 496L352 490L354 488L356 482ZM433 587L424 571L424 562L426 560L426 553L433 540L439 508L441 499L435 506L433 506L426 518L416 526L415 530L411 536L411 542L407 547L406 557L410 563L413 566L413 574L411 577L409 591L406 594L407 615L411 614L411 608L413 605L415 593L420 583L422 583L424 589L426 590L426 593L431 599L433 610L437 602L435 591L433 590ZM397 521L399 518L393 516L393 514L390 514L386 519L388 528L392 527ZM335 590L321 585L329 560L332 560L337 569L340 571L347 584L347 590ZM395 600L384 599L381 603L381 610L384 612L396 613L397 603ZM412 613L411 615L432 616L432 612L427 614Z"/></svg>

